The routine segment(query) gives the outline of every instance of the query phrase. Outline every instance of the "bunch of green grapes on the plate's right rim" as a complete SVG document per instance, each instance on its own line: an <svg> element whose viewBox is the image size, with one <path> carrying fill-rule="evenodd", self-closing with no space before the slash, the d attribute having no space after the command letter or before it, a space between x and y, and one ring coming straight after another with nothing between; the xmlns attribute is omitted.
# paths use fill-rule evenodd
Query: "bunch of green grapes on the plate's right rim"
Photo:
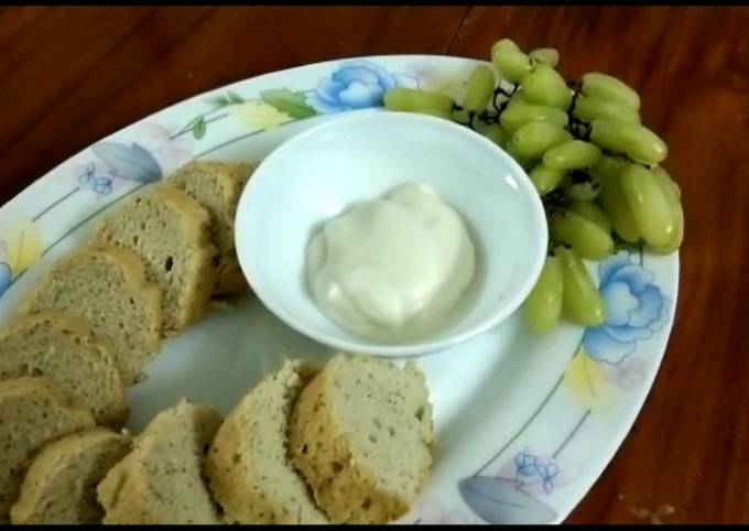
<svg viewBox="0 0 749 531"><path fill-rule="evenodd" d="M553 328L563 313L599 326L606 308L583 260L603 260L615 239L667 254L684 237L676 183L662 167L667 148L641 123L640 97L616 77L589 73L567 83L560 54L525 54L503 39L491 63L473 69L463 105L443 94L395 88L391 110L421 112L473 128L529 174L549 220L549 256L525 301L528 323Z"/></svg>

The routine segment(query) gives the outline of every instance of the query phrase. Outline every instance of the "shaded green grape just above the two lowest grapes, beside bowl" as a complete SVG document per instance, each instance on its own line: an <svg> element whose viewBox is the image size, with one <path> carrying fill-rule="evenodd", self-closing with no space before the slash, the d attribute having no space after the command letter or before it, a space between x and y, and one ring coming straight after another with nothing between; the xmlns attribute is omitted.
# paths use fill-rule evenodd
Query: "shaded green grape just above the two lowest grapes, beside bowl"
<svg viewBox="0 0 749 531"><path fill-rule="evenodd" d="M550 226L554 240L568 245L587 260L603 260L614 250L610 232L573 212L552 214Z"/></svg>

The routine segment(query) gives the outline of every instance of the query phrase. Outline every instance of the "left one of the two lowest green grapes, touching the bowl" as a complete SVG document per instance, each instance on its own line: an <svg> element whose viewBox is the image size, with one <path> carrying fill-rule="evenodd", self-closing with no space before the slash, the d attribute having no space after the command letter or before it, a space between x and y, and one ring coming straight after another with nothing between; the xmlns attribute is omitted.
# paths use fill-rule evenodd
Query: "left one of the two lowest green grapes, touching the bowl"
<svg viewBox="0 0 749 531"><path fill-rule="evenodd" d="M547 332L562 315L562 264L547 257L541 275L525 300L525 321L536 332Z"/></svg>

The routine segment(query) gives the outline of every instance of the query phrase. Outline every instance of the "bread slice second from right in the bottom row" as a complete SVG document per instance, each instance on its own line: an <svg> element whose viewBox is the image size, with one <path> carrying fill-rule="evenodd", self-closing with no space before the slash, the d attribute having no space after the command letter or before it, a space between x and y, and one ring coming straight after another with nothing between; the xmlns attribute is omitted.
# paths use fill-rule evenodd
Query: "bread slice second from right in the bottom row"
<svg viewBox="0 0 749 531"><path fill-rule="evenodd" d="M206 476L228 523L326 523L287 454L289 415L310 376L286 361L219 427Z"/></svg>

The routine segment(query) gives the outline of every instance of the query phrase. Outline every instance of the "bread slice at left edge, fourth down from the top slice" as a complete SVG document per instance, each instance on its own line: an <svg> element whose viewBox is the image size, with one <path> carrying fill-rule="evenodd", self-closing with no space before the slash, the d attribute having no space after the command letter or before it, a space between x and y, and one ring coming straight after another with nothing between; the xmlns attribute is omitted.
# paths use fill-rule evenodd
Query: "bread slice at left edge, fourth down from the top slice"
<svg viewBox="0 0 749 531"><path fill-rule="evenodd" d="M89 328L64 314L19 318L0 334L0 380L46 376L83 399L97 424L128 420L124 386L109 350Z"/></svg>

